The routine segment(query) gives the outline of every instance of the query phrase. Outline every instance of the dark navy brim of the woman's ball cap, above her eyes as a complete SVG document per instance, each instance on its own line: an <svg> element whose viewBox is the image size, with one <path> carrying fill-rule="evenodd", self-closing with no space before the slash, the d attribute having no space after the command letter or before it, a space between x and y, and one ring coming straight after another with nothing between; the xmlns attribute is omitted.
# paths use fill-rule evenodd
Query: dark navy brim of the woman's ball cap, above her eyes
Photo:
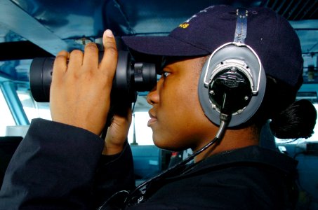
<svg viewBox="0 0 318 210"><path fill-rule="evenodd" d="M199 56L211 52L171 36L123 36L124 43L137 52L163 56Z"/></svg>

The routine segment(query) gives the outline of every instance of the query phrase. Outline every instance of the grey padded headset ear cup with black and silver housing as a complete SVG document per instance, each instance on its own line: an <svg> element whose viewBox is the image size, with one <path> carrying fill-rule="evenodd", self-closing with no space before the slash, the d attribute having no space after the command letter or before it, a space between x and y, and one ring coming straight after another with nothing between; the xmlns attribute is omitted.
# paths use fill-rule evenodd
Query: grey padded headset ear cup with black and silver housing
<svg viewBox="0 0 318 210"><path fill-rule="evenodd" d="M225 78L232 76L235 77L234 87L222 90L229 83ZM226 43L212 53L202 68L198 86L199 101L205 115L213 123L220 125L222 109L232 114L228 126L234 127L245 123L256 113L263 100L265 87L265 71L256 52L248 45ZM223 99L220 99L224 93L230 97L225 101L227 104L222 104Z"/></svg>

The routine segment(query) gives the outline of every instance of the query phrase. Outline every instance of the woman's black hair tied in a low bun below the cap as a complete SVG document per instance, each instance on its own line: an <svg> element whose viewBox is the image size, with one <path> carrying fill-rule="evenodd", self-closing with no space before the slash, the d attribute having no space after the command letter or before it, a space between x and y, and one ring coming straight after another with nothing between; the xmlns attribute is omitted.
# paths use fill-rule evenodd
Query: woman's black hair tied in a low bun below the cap
<svg viewBox="0 0 318 210"><path fill-rule="evenodd" d="M311 137L317 112L308 100L296 100L298 87L291 87L267 76L265 96L253 123L261 126L270 120L272 134L279 139Z"/></svg>

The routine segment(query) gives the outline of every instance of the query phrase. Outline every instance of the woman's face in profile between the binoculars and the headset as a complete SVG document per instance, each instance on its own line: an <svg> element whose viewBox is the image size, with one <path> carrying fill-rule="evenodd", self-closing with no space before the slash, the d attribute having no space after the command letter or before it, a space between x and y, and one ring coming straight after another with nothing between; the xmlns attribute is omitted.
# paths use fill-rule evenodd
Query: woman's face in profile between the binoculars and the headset
<svg viewBox="0 0 318 210"><path fill-rule="evenodd" d="M204 115L199 104L197 85L204 57L170 62L147 97L152 104L148 126L154 144L180 151L197 150L211 141L216 127Z"/></svg>

